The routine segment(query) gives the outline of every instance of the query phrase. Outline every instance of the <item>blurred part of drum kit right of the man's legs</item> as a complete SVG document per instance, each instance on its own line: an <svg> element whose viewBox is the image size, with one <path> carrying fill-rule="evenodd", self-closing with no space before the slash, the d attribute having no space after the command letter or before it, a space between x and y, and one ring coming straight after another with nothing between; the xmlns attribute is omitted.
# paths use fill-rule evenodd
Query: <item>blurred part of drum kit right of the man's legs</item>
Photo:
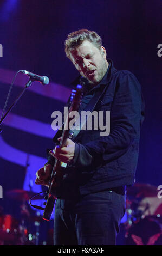
<svg viewBox="0 0 162 256"><path fill-rule="evenodd" d="M162 198L157 194L150 184L127 188L125 245L162 245Z"/></svg>

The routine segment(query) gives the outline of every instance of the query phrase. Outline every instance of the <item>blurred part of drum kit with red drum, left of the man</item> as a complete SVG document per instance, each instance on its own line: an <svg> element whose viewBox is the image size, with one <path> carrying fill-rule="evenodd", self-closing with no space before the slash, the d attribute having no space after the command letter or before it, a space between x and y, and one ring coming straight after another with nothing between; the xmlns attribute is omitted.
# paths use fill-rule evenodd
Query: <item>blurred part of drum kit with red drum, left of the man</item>
<svg viewBox="0 0 162 256"><path fill-rule="evenodd" d="M38 245L42 217L40 212L31 216L28 202L31 197L43 197L31 191L17 189L8 191L7 197L20 202L20 218L17 220L10 214L3 214L3 209L0 209L0 245Z"/></svg>

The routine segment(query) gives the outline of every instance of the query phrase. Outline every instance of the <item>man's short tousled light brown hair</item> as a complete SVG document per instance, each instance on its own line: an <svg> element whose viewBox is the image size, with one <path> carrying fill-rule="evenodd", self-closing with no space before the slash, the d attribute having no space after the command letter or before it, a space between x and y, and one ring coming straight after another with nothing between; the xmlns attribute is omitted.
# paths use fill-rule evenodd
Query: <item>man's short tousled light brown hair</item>
<svg viewBox="0 0 162 256"><path fill-rule="evenodd" d="M102 46L102 39L100 36L95 31L80 29L70 33L64 42L66 56L70 59L70 52L74 51L75 48L81 45L85 40L92 42L92 44L94 44L100 50Z"/></svg>

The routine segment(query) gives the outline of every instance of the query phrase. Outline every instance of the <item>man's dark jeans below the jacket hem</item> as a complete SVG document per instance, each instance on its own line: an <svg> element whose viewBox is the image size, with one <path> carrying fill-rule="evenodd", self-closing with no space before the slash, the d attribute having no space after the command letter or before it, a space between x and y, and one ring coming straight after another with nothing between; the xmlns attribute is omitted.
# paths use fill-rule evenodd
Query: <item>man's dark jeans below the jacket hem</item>
<svg viewBox="0 0 162 256"><path fill-rule="evenodd" d="M54 245L115 245L126 196L114 191L57 199Z"/></svg>

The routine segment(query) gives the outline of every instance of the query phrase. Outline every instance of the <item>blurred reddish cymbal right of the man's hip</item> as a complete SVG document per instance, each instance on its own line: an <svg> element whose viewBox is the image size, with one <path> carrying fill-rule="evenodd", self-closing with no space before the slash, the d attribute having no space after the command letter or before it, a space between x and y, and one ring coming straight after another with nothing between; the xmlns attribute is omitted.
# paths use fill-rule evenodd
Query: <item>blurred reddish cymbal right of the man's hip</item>
<svg viewBox="0 0 162 256"><path fill-rule="evenodd" d="M156 197L157 193L158 193L157 187L151 184L135 183L132 187L127 187L128 197L135 197L135 198Z"/></svg>

